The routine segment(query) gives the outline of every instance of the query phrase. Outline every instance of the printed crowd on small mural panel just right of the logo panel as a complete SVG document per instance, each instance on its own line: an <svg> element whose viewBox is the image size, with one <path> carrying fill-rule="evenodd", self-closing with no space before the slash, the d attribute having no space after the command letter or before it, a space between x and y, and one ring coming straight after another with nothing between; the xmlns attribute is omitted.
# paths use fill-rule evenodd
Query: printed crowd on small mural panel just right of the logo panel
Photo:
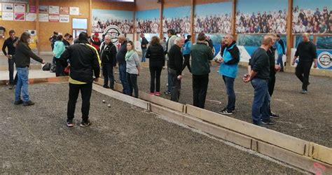
<svg viewBox="0 0 332 175"><path fill-rule="evenodd" d="M153 20L139 20L136 19L136 32L146 34L159 34L160 20L155 18Z"/></svg>

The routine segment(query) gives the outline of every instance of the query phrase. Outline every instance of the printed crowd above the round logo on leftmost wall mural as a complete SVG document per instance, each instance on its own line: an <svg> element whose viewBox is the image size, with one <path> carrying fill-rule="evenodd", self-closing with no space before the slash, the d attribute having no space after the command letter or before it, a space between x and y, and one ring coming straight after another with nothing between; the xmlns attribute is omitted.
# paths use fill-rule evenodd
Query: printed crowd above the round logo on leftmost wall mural
<svg viewBox="0 0 332 175"><path fill-rule="evenodd" d="M93 17L92 33L104 33L104 30L110 25L117 26L123 34L134 34L134 20L102 20Z"/></svg>

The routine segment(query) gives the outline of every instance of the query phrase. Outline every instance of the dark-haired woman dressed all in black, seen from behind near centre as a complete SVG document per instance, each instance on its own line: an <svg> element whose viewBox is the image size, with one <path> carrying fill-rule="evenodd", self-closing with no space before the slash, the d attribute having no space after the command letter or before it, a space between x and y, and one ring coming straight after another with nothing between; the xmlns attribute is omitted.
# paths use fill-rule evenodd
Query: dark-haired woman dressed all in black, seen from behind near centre
<svg viewBox="0 0 332 175"><path fill-rule="evenodd" d="M149 69L151 75L150 94L160 96L160 74L165 66L165 54L158 36L153 36L151 44L146 50L146 57L149 58Z"/></svg>

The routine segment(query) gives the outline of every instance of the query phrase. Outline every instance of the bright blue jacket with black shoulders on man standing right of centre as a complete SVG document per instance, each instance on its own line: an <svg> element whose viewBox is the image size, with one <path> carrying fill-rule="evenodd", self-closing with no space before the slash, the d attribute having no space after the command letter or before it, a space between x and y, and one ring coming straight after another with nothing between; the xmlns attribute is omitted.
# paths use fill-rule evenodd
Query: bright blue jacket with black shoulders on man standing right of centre
<svg viewBox="0 0 332 175"><path fill-rule="evenodd" d="M235 42L231 43L223 51L223 62L220 64L219 74L236 78L237 65L240 62L240 50L237 48Z"/></svg>

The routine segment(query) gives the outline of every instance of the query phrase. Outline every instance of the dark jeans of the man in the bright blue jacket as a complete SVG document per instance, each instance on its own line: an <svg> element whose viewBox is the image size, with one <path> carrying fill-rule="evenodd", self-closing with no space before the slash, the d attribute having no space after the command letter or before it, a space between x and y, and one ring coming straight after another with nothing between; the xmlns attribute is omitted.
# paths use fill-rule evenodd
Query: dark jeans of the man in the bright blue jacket
<svg viewBox="0 0 332 175"><path fill-rule="evenodd" d="M227 95L228 95L228 104L226 106L227 111L234 111L235 110L234 80L235 80L235 78L230 78L228 76L223 76L223 82L226 85L226 92L227 92Z"/></svg>

